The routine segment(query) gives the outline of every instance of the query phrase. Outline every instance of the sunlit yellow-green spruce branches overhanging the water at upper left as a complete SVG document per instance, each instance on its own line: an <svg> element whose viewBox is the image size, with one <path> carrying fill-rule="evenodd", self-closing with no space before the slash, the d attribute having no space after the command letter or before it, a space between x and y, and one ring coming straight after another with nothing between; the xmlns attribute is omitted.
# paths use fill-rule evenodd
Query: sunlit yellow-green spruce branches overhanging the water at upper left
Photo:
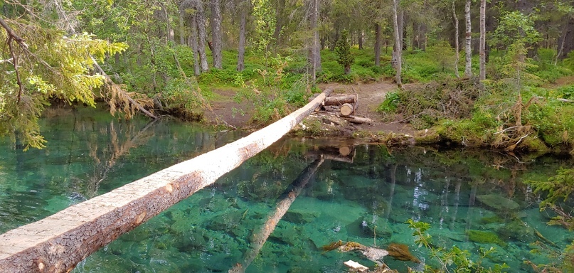
<svg viewBox="0 0 574 273"><path fill-rule="evenodd" d="M102 62L107 54L120 53L124 43L109 43L87 33L65 36L63 32L43 28L30 22L7 20L26 47L8 40L0 28L0 40L11 47L0 49L2 56L18 56L18 65L0 64L0 135L9 135L13 142L41 148L45 140L40 134L38 118L57 97L65 102L94 105L94 88L102 86L104 77L91 72L94 59ZM94 59L92 59L94 58Z"/></svg>

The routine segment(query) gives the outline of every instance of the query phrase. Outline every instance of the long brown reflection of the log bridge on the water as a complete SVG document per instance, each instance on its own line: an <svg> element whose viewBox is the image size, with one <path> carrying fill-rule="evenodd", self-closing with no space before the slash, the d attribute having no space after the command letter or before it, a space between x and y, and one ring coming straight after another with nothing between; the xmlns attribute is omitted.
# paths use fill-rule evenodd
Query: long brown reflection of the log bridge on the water
<svg viewBox="0 0 574 273"><path fill-rule="evenodd" d="M315 160L312 164L307 166L302 173L297 176L297 179L293 181L289 190L282 194L282 199L277 202L275 213L270 215L260 228L260 230L253 235L253 240L251 242L251 249L243 255L243 262L238 263L232 269L229 269L229 273L240 273L245 272L245 269L249 267L253 259L259 255L261 247L267 242L269 235L275 230L277 223L283 218L283 215L287 213L291 204L299 196L299 193L303 190L305 185L309 183L309 180L317 172L317 169L323 163L324 159L319 158Z"/></svg>

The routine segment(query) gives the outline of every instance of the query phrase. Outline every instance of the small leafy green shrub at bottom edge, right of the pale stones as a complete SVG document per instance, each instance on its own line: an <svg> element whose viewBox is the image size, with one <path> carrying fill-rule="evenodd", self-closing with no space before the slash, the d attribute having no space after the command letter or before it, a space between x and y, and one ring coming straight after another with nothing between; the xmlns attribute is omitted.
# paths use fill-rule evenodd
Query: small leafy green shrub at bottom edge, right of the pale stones
<svg viewBox="0 0 574 273"><path fill-rule="evenodd" d="M479 259L474 262L470 259L470 252L468 250L460 250L458 247L453 246L449 250L442 247L435 247L432 244L432 236L427 233L430 229L430 224L425 222L417 222L409 219L406 222L409 228L413 229L413 237L418 247L425 247L429 251L430 259L435 260L440 264L440 268L433 268L429 262L425 264L423 272L504 272L504 269L509 268L506 263L494 264L494 267L484 267L482 260L494 254L496 249L490 247L488 250L484 248L479 249Z"/></svg>

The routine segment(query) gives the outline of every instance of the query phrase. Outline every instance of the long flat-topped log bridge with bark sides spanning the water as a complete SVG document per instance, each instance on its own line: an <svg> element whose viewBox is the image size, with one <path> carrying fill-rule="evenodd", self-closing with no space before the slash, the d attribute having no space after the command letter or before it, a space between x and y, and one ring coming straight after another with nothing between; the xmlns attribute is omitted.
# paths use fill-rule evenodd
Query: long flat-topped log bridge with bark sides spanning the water
<svg viewBox="0 0 574 273"><path fill-rule="evenodd" d="M0 235L0 272L70 272L119 235L266 149L319 107L332 91L325 90L304 107L248 137L9 230Z"/></svg>

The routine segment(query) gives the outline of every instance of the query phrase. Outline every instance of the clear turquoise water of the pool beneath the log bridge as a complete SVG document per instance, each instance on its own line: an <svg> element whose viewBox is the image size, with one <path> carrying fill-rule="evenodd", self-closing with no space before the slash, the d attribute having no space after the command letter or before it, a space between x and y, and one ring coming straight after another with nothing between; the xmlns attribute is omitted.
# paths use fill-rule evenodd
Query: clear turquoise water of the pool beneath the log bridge
<svg viewBox="0 0 574 273"><path fill-rule="evenodd" d="M2 142L0 232L239 137L169 120L118 122L94 112L44 119L43 150L21 152ZM341 156L347 154L341 146L351 153ZM307 183L297 181L318 154L339 161L325 160ZM238 264L245 272L346 272L349 259L373 266L358 252L321 250L337 240L381 248L401 243L434 264L414 244L408 219L430 223L437 247L456 245L474 260L479 248L494 247L484 265L506 262L508 272L531 272L523 261L559 262L531 253L534 242L560 252L574 236L546 225L551 214L539 211L538 197L522 181L546 179L572 163L570 157L285 138L122 235L75 272L228 272ZM421 267L391 257L384 262L400 272Z"/></svg>

